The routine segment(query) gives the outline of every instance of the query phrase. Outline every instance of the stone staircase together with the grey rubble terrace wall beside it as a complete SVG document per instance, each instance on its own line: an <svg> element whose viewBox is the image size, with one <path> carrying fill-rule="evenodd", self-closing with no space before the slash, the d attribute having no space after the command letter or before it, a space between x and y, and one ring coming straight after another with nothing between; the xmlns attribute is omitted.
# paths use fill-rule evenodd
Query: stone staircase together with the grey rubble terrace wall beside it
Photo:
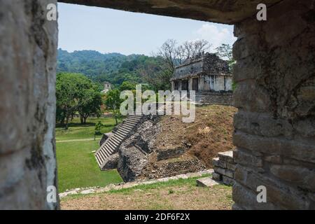
<svg viewBox="0 0 315 224"><path fill-rule="evenodd" d="M117 169L124 181L176 176L206 169L189 147L160 148L155 142L161 132L162 116L129 115L123 123L104 134L95 158L101 170Z"/></svg>

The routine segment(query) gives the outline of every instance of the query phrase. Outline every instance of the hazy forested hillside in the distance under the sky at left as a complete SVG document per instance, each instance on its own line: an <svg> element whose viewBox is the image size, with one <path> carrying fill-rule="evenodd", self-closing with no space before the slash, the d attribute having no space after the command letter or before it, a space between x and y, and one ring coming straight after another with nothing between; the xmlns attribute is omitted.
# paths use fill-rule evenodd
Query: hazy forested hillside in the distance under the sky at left
<svg viewBox="0 0 315 224"><path fill-rule="evenodd" d="M162 57L122 55L115 52L102 54L94 50L67 52L58 49L57 72L83 73L98 83L146 83L144 76L148 68L160 72L163 63Z"/></svg>

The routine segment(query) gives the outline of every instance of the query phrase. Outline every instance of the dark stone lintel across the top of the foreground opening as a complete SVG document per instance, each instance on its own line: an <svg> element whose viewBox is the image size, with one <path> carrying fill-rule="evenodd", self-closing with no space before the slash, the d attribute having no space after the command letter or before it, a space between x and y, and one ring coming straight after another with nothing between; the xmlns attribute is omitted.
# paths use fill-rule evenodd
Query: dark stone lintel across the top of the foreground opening
<svg viewBox="0 0 315 224"><path fill-rule="evenodd" d="M272 6L280 0L265 0L267 6ZM251 17L257 13L256 6L261 3L253 1L179 1L179 0L61 0L66 3L77 3L87 6L98 6L130 10L139 13L152 13L157 15L169 15L193 20L204 20L211 22L222 22L233 24ZM245 7L246 6L246 7Z"/></svg>

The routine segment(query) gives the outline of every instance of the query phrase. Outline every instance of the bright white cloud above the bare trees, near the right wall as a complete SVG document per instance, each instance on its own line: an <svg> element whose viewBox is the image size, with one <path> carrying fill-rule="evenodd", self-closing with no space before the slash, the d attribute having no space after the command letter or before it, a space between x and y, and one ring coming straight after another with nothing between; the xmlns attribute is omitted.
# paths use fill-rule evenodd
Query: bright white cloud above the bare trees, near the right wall
<svg viewBox="0 0 315 224"><path fill-rule="evenodd" d="M200 29L195 31L197 39L204 39L212 44L211 51L214 51L222 43L232 45L236 41L236 37L232 31L225 27L218 27L216 25L204 24Z"/></svg>

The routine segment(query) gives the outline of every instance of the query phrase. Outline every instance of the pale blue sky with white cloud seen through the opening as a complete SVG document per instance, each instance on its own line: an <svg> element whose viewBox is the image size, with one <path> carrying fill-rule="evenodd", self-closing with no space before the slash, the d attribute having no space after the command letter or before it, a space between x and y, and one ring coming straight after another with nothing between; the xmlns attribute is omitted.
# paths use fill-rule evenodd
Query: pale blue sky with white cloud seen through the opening
<svg viewBox="0 0 315 224"><path fill-rule="evenodd" d="M236 41L230 25L67 3L58 3L58 12L58 48L69 52L152 55L169 38L178 43L205 39L213 52L221 43Z"/></svg>

